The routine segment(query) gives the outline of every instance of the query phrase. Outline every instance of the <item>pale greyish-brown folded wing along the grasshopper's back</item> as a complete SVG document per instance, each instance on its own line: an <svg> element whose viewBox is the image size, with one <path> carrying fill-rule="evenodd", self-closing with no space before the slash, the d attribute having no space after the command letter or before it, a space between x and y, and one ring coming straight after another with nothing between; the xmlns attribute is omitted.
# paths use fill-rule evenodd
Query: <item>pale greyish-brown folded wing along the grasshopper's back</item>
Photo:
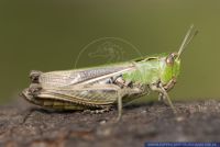
<svg viewBox="0 0 220 147"><path fill-rule="evenodd" d="M87 84L134 70L131 63L87 69L43 72L38 76L42 88Z"/></svg>

